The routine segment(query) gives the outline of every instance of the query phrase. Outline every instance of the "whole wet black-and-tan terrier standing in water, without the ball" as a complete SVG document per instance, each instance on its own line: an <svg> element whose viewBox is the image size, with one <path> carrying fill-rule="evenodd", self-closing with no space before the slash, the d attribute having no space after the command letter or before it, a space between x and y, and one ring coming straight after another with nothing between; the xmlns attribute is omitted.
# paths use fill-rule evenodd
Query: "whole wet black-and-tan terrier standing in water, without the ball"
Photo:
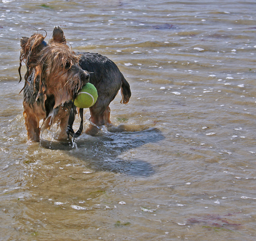
<svg viewBox="0 0 256 241"><path fill-rule="evenodd" d="M40 132L49 129L53 123L60 127L58 140L69 136L78 137L83 129L83 110L76 108L72 100L87 82L98 91L96 103L90 107L90 126L87 134L95 135L99 127L111 124L109 104L121 88L121 103L128 103L130 85L118 67L100 54L73 52L67 45L61 28L55 27L52 39L46 43L46 36L35 33L20 39L20 67L24 62L23 116L28 140L38 142ZM72 126L77 111L81 116L79 130ZM43 120L39 127L40 120Z"/></svg>

